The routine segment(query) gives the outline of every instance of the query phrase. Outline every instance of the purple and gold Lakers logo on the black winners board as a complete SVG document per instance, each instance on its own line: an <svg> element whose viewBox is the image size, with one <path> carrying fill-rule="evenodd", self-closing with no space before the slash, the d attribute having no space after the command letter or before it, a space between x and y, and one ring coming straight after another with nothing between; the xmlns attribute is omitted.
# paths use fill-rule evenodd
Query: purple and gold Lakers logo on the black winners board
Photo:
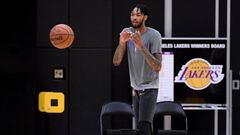
<svg viewBox="0 0 240 135"><path fill-rule="evenodd" d="M193 90L203 90L210 84L217 84L222 81L222 65L211 65L208 61L195 58L183 65L175 82L185 83Z"/></svg>

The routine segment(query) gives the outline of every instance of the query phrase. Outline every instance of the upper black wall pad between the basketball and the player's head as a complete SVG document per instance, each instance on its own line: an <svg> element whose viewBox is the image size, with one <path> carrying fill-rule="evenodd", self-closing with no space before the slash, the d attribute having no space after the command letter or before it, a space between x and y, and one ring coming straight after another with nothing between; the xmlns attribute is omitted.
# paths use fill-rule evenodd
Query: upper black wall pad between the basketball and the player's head
<svg viewBox="0 0 240 135"><path fill-rule="evenodd" d="M70 0L69 23L74 28L72 48L111 48L111 0Z"/></svg>

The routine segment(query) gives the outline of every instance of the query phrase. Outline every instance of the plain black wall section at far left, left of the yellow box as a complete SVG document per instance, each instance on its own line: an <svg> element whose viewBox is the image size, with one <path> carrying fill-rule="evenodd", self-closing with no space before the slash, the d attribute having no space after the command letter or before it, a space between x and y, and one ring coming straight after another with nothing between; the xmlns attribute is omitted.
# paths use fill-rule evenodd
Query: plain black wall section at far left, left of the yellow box
<svg viewBox="0 0 240 135"><path fill-rule="evenodd" d="M32 98L36 96L36 1L4 1L1 6L0 130L33 135L37 128L37 101Z"/></svg>

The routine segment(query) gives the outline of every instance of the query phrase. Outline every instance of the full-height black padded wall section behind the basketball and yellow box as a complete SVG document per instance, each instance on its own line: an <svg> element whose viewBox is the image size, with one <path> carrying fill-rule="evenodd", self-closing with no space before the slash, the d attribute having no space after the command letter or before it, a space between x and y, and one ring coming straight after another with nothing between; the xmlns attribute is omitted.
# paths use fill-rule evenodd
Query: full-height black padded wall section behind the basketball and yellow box
<svg viewBox="0 0 240 135"><path fill-rule="evenodd" d="M103 103L111 98L111 1L38 1L38 91L65 94L65 111L39 112L38 133L99 134ZM54 48L50 29L59 23L72 27L71 47ZM54 80L53 68L64 68L65 79Z"/></svg>

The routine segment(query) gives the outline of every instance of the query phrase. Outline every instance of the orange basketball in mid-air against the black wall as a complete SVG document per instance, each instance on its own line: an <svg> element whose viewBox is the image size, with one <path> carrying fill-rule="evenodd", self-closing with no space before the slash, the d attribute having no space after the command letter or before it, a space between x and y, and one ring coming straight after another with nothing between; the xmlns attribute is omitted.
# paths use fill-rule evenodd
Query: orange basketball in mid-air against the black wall
<svg viewBox="0 0 240 135"><path fill-rule="evenodd" d="M51 29L49 38L54 47L65 49L72 45L74 33L70 26L57 24Z"/></svg>

